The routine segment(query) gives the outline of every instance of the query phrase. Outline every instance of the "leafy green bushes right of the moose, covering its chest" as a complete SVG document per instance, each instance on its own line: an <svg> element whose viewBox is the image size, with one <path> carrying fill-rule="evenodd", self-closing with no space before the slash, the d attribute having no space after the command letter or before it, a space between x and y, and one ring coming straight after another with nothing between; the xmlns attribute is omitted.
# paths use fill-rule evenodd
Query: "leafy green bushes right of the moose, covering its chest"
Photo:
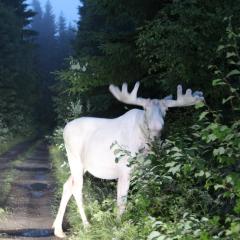
<svg viewBox="0 0 240 240"><path fill-rule="evenodd" d="M227 33L222 45L226 50L232 36L235 43L239 40L231 24ZM215 74L219 82L225 83L216 87L224 87L228 98L231 97L231 120L220 109L205 107L190 132L185 129L179 134L173 129L165 142L153 144L148 156L139 154L130 161L136 165L132 178L133 216L138 212L137 219L141 218L139 210L142 209L142 215L148 212L156 218L149 236L152 239L237 239L239 236L239 84L234 87L235 81L239 81L235 78L239 66L229 69L228 58L226 52L222 59L225 64ZM239 61L239 57L235 60ZM197 108L201 107L204 105Z"/></svg>

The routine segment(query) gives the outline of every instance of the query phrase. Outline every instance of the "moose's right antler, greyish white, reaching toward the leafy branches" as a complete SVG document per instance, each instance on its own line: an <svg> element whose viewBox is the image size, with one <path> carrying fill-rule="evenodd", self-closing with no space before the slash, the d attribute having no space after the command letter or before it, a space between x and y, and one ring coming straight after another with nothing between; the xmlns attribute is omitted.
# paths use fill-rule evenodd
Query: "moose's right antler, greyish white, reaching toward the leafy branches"
<svg viewBox="0 0 240 240"><path fill-rule="evenodd" d="M177 100L172 100L172 96L167 96L164 98L164 102L167 107L191 106L202 101L204 101L202 92L195 91L192 94L192 90L188 89L186 91L186 94L183 95L181 85L178 85L177 87Z"/></svg>

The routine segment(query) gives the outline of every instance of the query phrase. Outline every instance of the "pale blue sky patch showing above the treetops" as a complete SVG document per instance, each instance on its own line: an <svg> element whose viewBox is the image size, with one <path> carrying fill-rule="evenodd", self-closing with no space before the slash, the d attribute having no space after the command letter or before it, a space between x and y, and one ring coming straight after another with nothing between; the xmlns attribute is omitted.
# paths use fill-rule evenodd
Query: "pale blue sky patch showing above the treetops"
<svg viewBox="0 0 240 240"><path fill-rule="evenodd" d="M42 8L44 8L47 0L39 0ZM31 4L32 0L27 0L27 3ZM78 20L78 5L79 0L50 0L53 11L58 18L59 14L63 12L65 18L71 22L75 23Z"/></svg>

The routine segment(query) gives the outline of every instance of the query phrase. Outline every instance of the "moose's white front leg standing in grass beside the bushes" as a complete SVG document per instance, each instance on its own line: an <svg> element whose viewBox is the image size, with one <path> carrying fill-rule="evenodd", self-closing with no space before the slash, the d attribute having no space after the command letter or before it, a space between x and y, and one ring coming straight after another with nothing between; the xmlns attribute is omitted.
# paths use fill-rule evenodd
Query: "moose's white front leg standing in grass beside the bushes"
<svg viewBox="0 0 240 240"><path fill-rule="evenodd" d="M130 185L130 172L123 173L118 178L117 184L117 206L118 206L118 217L124 213L127 203L128 189Z"/></svg>

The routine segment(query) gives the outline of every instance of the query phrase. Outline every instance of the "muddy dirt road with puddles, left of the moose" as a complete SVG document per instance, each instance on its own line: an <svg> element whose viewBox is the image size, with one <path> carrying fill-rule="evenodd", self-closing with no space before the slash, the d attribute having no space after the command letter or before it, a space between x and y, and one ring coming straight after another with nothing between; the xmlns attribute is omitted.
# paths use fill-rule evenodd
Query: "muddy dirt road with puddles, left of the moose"
<svg viewBox="0 0 240 240"><path fill-rule="evenodd" d="M25 158L16 161L24 152ZM55 239L51 229L54 181L47 144L27 142L0 157L0 195L5 183L1 174L11 169L10 191L0 206L7 209L0 219L0 239Z"/></svg>

